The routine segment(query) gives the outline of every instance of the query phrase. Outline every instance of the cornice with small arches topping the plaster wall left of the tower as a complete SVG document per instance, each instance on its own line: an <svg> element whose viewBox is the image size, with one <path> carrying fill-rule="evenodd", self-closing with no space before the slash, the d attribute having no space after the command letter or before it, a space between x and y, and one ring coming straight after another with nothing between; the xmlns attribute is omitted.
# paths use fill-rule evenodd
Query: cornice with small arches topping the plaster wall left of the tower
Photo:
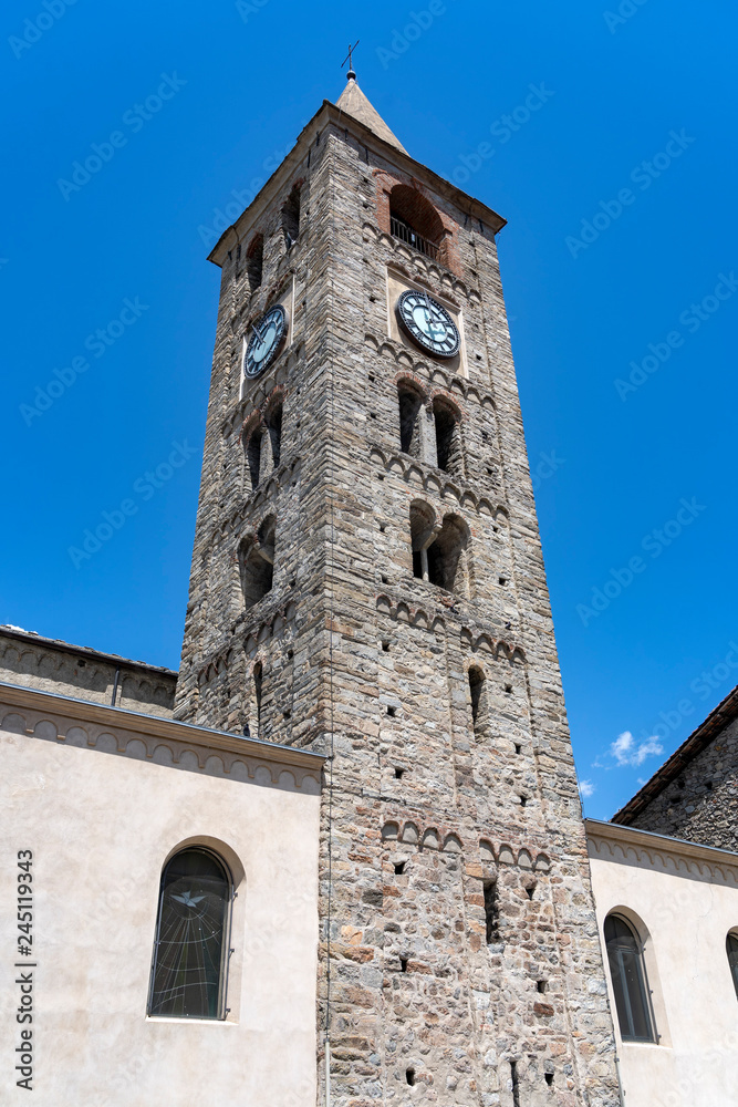
<svg viewBox="0 0 738 1107"><path fill-rule="evenodd" d="M287 770L297 790L320 790L325 758L312 751L2 682L0 710L3 728L11 733L51 738L60 744L69 738L69 745L93 748L100 743L108 753L128 753L142 761L264 784L279 784L282 770ZM111 748L108 741L101 743L101 738L113 738L114 746ZM162 747L163 754L159 753ZM189 756L183 761L184 754ZM232 772L235 766L239 766L236 773ZM303 787L305 778L311 780L306 788Z"/></svg>

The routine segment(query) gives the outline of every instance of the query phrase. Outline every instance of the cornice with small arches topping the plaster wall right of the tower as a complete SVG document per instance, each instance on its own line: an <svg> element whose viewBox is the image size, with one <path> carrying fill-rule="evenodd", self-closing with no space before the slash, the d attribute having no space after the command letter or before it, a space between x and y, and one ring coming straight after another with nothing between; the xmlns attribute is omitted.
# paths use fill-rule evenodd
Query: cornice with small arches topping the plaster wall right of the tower
<svg viewBox="0 0 738 1107"><path fill-rule="evenodd" d="M647 863L675 875L713 879L716 873L738 886L738 853L695 841L597 819L584 819L590 856L616 863Z"/></svg>

